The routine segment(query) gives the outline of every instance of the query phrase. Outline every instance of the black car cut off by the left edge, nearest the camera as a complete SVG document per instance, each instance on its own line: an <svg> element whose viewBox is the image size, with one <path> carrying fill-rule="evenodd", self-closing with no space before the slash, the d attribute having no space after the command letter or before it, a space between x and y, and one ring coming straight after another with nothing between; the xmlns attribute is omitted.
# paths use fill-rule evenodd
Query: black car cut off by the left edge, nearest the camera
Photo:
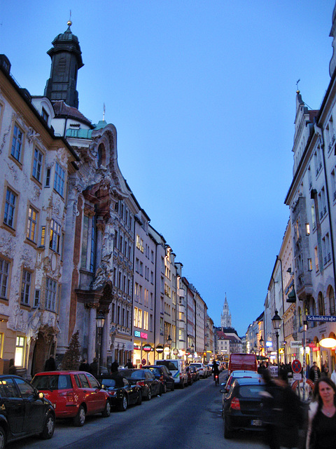
<svg viewBox="0 0 336 449"><path fill-rule="evenodd" d="M20 376L0 375L0 449L25 436L49 439L54 430L55 410L43 393Z"/></svg>

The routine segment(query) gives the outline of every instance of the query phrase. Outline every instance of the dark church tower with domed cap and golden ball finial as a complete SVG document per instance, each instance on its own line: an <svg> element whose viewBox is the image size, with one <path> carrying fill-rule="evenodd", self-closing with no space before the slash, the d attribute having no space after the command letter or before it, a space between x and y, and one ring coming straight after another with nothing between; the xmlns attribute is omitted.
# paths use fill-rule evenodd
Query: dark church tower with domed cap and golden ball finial
<svg viewBox="0 0 336 449"><path fill-rule="evenodd" d="M63 100L66 105L78 109L76 86L78 69L83 67L82 52L78 37L71 32L71 20L67 25L66 32L55 37L53 48L47 52L51 58L51 70L44 95L50 101Z"/></svg>

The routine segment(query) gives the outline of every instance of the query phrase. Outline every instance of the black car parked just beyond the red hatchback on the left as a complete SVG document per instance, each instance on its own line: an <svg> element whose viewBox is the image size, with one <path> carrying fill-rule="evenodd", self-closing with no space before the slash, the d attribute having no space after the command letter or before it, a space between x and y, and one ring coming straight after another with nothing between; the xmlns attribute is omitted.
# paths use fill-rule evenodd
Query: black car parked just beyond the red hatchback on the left
<svg viewBox="0 0 336 449"><path fill-rule="evenodd" d="M123 375L104 375L98 377L102 388L110 395L111 406L125 412L128 406L140 405L142 402L142 389L140 385L132 385Z"/></svg>

